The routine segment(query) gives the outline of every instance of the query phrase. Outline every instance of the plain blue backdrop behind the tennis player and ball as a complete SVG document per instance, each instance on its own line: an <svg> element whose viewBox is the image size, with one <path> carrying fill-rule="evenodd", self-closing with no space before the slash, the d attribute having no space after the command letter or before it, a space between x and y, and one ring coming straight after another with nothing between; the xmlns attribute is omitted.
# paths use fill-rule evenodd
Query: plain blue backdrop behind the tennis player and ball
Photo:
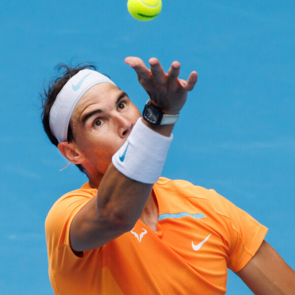
<svg viewBox="0 0 295 295"><path fill-rule="evenodd" d="M52 294L44 221L85 176L46 138L44 80L60 62L90 61L142 110L147 95L124 58L198 72L163 175L214 188L269 227L294 269L295 3L163 0L149 22L127 1L2 0L0 10L0 293ZM227 294L251 294L229 272Z"/></svg>

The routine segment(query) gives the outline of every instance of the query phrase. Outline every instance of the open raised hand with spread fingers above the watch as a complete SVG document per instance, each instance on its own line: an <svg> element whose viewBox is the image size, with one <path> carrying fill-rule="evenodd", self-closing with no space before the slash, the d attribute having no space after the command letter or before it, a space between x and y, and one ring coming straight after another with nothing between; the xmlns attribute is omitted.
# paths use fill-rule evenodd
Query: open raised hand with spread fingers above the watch
<svg viewBox="0 0 295 295"><path fill-rule="evenodd" d="M149 94L153 104L166 114L180 112L187 100L188 91L192 91L197 82L196 71L191 72L187 81L178 78L179 62L173 62L167 74L157 58L150 58L151 70L138 57L126 57L125 63L135 70L139 83Z"/></svg>

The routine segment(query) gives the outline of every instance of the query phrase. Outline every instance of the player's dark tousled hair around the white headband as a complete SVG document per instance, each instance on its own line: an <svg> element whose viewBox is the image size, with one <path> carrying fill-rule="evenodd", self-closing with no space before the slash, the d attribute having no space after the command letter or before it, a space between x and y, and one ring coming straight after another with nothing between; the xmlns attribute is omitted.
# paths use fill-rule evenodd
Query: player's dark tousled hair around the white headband
<svg viewBox="0 0 295 295"><path fill-rule="evenodd" d="M66 64L58 64L56 65L55 70L59 75L57 75L56 77L53 77L49 81L48 85L44 84L43 86L43 93L41 94L42 109L43 109L41 114L42 124L48 138L55 146L57 146L58 140L56 139L56 137L52 134L50 130L50 126L49 126L50 109L56 99L57 94L60 93L64 85L70 80L71 77L73 77L79 71L84 69L92 69L96 71L97 68L96 66L93 66L87 63L79 64L77 66L68 66ZM75 138L73 134L73 129L70 123L68 127L67 141L71 142L74 139ZM82 165L79 164L76 166L79 168L81 172L86 173Z"/></svg>

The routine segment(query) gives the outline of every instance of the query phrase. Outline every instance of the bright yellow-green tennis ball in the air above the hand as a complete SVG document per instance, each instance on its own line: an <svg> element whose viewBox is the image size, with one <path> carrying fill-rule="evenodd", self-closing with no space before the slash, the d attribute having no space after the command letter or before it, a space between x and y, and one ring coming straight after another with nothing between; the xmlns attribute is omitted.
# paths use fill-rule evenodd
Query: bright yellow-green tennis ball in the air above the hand
<svg viewBox="0 0 295 295"><path fill-rule="evenodd" d="M128 0L130 14L142 21L154 19L162 9L161 0Z"/></svg>

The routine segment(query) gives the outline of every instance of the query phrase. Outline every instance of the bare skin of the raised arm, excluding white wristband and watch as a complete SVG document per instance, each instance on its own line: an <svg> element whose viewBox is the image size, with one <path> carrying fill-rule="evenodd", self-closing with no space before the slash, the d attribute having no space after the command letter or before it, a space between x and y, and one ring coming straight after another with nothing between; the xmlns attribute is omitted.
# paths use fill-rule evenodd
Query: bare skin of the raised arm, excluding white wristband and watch
<svg viewBox="0 0 295 295"><path fill-rule="evenodd" d="M179 113L188 91L197 82L196 72L192 72L187 81L178 78L178 62L172 63L168 73L163 71L156 58L151 58L150 69L138 57L127 57L125 62L136 71L140 84L153 104L165 114ZM143 123L164 136L170 136L173 129L173 125L152 126L145 121ZM151 153L157 153L157 150ZM110 163L99 184L97 197L91 199L72 221L72 249L77 252L95 249L131 230L140 217L152 187L153 184L128 178Z"/></svg>

